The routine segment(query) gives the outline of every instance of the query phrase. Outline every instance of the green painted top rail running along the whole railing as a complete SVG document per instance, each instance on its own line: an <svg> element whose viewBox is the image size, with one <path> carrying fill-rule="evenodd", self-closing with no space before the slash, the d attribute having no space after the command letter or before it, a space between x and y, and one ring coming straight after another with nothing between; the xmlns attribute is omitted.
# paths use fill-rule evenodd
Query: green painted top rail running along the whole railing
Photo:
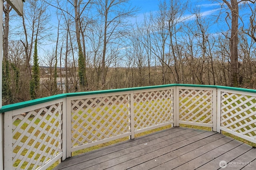
<svg viewBox="0 0 256 170"><path fill-rule="evenodd" d="M20 103L2 106L2 108L0 109L0 113L15 110L15 109L20 109L23 107L33 106L33 105L41 104L44 102L50 102L50 101L61 99L61 98L72 97L72 96L84 96L84 95L91 95L91 94L104 94L104 93L113 93L113 92L126 92L126 91L146 90L146 89L165 88L165 87L174 87L174 86L217 88L217 89L219 88L219 89L226 89L226 90L236 90L240 92L256 93L256 90L252 90L252 89L234 88L234 87L226 87L226 86L198 85L198 84L165 84L165 85L158 85L158 86L144 86L144 87L134 87L134 88L120 88L120 89L111 89L111 90L98 90L98 91L90 91L90 92L57 94L57 95L49 96L45 98L29 100L26 102L20 102Z"/></svg>

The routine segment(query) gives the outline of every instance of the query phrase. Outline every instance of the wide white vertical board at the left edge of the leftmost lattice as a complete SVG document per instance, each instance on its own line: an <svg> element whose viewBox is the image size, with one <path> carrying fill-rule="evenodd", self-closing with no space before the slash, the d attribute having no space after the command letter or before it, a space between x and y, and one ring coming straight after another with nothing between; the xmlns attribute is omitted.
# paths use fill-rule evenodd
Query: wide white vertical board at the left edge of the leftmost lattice
<svg viewBox="0 0 256 170"><path fill-rule="evenodd" d="M4 113L4 170L12 169L12 111Z"/></svg>

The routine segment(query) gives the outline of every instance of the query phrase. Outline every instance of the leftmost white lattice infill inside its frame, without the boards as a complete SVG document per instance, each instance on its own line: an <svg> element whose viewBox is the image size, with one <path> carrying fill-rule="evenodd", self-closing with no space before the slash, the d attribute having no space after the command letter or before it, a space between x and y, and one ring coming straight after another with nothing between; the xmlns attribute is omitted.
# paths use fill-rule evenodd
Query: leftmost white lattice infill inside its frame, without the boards
<svg viewBox="0 0 256 170"><path fill-rule="evenodd" d="M36 169L62 152L62 103L12 117L12 163Z"/></svg>

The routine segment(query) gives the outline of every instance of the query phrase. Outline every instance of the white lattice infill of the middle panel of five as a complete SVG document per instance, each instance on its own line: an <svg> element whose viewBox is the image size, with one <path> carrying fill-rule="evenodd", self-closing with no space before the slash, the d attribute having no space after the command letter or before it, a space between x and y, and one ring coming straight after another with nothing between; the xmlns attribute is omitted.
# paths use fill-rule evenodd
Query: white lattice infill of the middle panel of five
<svg viewBox="0 0 256 170"><path fill-rule="evenodd" d="M135 131L173 120L173 89L134 93Z"/></svg>

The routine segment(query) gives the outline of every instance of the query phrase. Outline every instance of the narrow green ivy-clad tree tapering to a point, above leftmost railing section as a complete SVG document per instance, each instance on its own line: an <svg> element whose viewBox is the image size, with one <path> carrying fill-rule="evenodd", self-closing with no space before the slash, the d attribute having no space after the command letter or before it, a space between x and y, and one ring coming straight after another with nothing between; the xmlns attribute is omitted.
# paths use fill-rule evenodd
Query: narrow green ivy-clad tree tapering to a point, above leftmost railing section
<svg viewBox="0 0 256 170"><path fill-rule="evenodd" d="M38 55L37 55L37 40L35 41L34 47L34 62L32 67L32 80L30 81L30 96L31 99L36 99L37 92L39 89L39 81L40 81L40 70L38 64Z"/></svg>

